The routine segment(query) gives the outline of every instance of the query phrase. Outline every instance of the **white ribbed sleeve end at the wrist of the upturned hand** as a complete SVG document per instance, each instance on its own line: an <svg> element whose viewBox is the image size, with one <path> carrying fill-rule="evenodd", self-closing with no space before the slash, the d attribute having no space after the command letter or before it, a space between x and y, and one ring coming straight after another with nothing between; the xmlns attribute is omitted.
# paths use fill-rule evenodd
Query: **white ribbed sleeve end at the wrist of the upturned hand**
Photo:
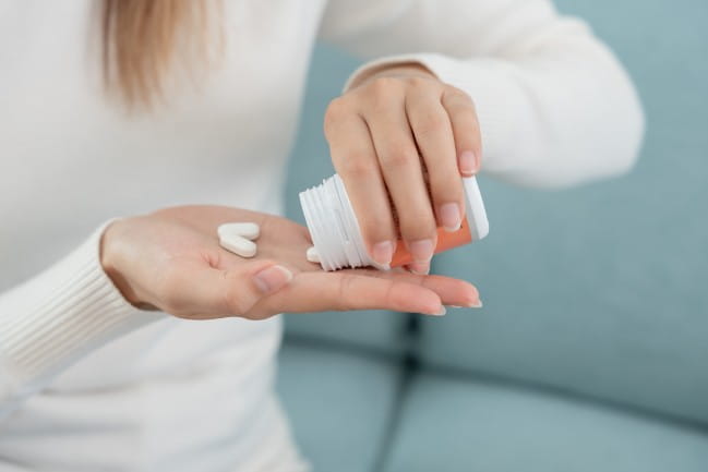
<svg viewBox="0 0 708 472"><path fill-rule="evenodd" d="M99 244L107 226L0 293L0 420L83 355L165 316L133 307L104 273Z"/></svg>

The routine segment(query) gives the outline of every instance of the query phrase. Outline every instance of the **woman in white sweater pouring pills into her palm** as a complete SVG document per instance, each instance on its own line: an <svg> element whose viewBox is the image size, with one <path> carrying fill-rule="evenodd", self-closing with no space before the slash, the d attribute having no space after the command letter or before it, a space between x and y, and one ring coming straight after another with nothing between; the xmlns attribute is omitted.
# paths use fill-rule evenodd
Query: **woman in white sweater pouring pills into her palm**
<svg viewBox="0 0 708 472"><path fill-rule="evenodd" d="M643 132L612 53L547 0L7 0L0 38L3 471L303 470L274 315L479 305L425 275L459 176L616 174ZM316 39L375 58L324 129L372 257L395 209L409 273L322 273L274 216ZM227 221L261 223L257 257L218 246Z"/></svg>

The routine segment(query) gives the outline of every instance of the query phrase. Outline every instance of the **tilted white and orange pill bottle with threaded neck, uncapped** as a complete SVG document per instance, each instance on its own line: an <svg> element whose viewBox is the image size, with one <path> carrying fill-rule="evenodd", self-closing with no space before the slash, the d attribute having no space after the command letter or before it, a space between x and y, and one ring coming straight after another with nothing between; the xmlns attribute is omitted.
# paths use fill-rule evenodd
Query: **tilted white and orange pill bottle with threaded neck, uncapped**
<svg viewBox="0 0 708 472"><path fill-rule="evenodd" d="M435 254L481 240L489 233L489 221L477 179L468 177L461 180L465 189L465 218L457 231L448 232L442 227L437 228ZM300 205L323 269L364 266L385 269L367 252L357 216L338 174L300 192ZM404 242L397 241L391 267L412 262Z"/></svg>

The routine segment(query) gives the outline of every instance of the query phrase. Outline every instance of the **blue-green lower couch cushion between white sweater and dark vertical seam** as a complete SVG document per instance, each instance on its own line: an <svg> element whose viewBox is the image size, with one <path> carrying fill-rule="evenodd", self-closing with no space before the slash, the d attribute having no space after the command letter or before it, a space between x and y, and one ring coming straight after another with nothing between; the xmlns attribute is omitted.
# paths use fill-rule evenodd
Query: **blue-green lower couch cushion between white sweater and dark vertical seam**
<svg viewBox="0 0 708 472"><path fill-rule="evenodd" d="M278 390L315 472L372 469L398 375L395 364L370 354L284 346Z"/></svg>

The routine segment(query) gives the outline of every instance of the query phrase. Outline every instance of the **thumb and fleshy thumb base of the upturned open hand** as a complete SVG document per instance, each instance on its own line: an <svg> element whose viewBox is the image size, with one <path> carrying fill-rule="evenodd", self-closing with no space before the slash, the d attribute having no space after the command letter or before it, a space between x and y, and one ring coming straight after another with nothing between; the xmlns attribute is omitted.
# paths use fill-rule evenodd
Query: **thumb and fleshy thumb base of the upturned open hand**
<svg viewBox="0 0 708 472"><path fill-rule="evenodd" d="M177 262L165 276L160 310L185 318L249 317L253 306L290 283L292 273L272 261L215 268L201 261Z"/></svg>

